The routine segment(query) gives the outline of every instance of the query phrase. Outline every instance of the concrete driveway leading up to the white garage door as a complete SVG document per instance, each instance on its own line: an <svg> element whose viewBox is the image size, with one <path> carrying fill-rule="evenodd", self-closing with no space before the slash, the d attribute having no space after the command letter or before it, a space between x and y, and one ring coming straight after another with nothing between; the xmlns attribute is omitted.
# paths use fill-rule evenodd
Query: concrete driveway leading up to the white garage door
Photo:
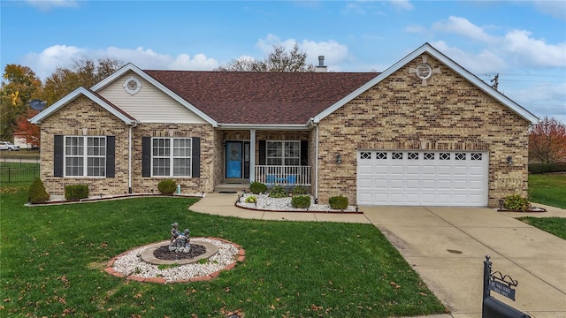
<svg viewBox="0 0 566 318"><path fill-rule="evenodd" d="M516 301L492 296L532 317L566 318L565 240L491 208L360 209L452 316L481 317L483 262L489 255L493 271L518 281Z"/></svg>

